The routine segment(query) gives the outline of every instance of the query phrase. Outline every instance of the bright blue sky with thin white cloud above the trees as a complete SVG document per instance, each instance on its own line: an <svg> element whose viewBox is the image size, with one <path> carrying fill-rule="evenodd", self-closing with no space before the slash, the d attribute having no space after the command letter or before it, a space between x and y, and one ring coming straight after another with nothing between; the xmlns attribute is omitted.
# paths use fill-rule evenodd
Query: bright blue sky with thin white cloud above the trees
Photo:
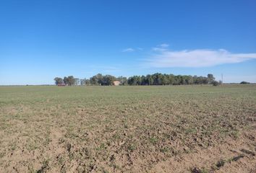
<svg viewBox="0 0 256 173"><path fill-rule="evenodd" d="M0 1L0 85L208 73L256 82L256 1Z"/></svg>

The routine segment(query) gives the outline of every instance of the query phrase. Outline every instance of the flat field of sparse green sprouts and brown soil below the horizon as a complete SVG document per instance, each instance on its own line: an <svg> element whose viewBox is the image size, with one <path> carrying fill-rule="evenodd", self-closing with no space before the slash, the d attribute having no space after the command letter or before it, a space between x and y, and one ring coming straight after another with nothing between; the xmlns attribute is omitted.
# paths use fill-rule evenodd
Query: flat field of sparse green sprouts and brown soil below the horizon
<svg viewBox="0 0 256 173"><path fill-rule="evenodd" d="M0 172L256 172L256 85L1 86Z"/></svg>

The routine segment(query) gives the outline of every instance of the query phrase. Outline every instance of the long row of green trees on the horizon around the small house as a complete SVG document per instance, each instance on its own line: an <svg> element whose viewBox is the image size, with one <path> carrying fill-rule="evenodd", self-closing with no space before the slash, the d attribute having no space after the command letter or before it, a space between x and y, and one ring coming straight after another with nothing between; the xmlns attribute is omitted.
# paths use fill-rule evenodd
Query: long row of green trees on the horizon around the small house
<svg viewBox="0 0 256 173"><path fill-rule="evenodd" d="M213 74L208 76L190 76L190 75L174 75L174 74L148 74L146 76L131 76L127 79L124 76L111 76L96 74L90 79L78 79L74 76L64 76L64 78L56 77L54 79L56 85L113 85L114 81L119 81L120 85L186 85L186 84L214 84L221 83L216 81Z"/></svg>

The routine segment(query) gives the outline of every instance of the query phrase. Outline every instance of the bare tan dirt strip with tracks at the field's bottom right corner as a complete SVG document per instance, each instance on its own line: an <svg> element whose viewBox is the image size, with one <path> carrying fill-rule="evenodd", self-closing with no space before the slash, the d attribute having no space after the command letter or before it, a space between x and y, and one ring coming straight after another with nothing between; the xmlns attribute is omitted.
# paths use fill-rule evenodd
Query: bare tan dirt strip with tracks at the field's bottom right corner
<svg viewBox="0 0 256 173"><path fill-rule="evenodd" d="M256 143L246 137L254 134L256 130L245 133L244 137L237 140L226 140L216 147L198 148L192 154L182 154L161 161L150 172L255 172L256 157L252 150Z"/></svg>

